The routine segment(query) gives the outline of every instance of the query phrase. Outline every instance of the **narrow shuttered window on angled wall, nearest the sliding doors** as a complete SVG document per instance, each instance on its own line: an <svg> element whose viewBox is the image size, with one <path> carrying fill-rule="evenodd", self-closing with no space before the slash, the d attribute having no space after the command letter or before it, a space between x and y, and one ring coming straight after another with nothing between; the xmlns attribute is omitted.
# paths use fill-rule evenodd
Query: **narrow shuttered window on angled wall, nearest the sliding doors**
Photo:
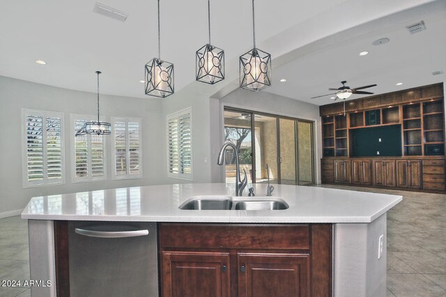
<svg viewBox="0 0 446 297"><path fill-rule="evenodd" d="M167 115L168 176L193 180L192 109Z"/></svg>

